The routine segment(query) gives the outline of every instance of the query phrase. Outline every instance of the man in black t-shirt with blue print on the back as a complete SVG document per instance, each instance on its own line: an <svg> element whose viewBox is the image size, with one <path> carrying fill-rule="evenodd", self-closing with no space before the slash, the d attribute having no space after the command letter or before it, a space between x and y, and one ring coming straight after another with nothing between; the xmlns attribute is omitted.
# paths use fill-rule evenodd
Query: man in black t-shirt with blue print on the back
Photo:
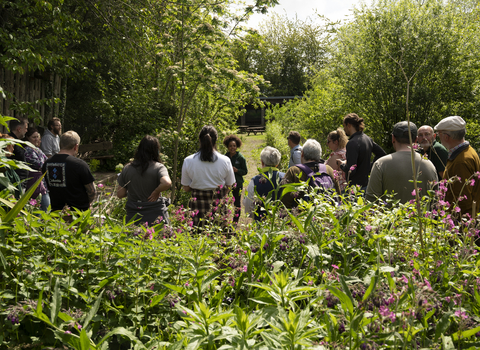
<svg viewBox="0 0 480 350"><path fill-rule="evenodd" d="M76 158L79 144L80 136L67 131L60 137L60 152L43 164L52 211L65 206L87 210L95 199L94 178L88 164Z"/></svg>

